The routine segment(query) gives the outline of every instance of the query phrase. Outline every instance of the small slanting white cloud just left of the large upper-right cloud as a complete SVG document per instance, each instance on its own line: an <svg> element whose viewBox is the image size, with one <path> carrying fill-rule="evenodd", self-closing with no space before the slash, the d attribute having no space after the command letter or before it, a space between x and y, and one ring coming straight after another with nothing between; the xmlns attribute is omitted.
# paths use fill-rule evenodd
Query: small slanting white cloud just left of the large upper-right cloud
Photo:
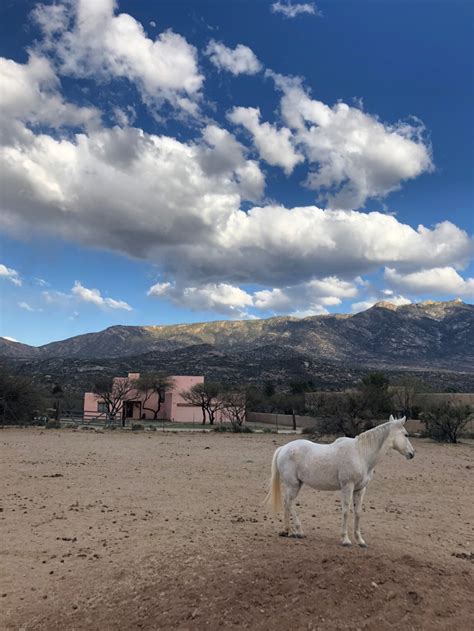
<svg viewBox="0 0 474 631"><path fill-rule="evenodd" d="M293 146L291 131L286 127L278 129L270 123L260 123L258 108L234 107L227 118L235 125L245 127L252 134L260 157L268 164L282 167L287 175L304 160Z"/></svg>

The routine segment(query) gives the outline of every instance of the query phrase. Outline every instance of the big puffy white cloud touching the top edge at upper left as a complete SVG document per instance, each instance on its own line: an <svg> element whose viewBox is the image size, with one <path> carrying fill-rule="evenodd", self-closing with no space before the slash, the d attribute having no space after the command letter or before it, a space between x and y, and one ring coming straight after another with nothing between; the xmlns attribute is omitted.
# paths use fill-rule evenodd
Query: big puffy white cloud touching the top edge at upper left
<svg viewBox="0 0 474 631"><path fill-rule="evenodd" d="M150 39L131 15L116 14L114 0L39 5L34 17L42 49L54 52L62 74L128 79L147 104L166 101L196 114L204 77L196 49L181 35L167 30Z"/></svg>

